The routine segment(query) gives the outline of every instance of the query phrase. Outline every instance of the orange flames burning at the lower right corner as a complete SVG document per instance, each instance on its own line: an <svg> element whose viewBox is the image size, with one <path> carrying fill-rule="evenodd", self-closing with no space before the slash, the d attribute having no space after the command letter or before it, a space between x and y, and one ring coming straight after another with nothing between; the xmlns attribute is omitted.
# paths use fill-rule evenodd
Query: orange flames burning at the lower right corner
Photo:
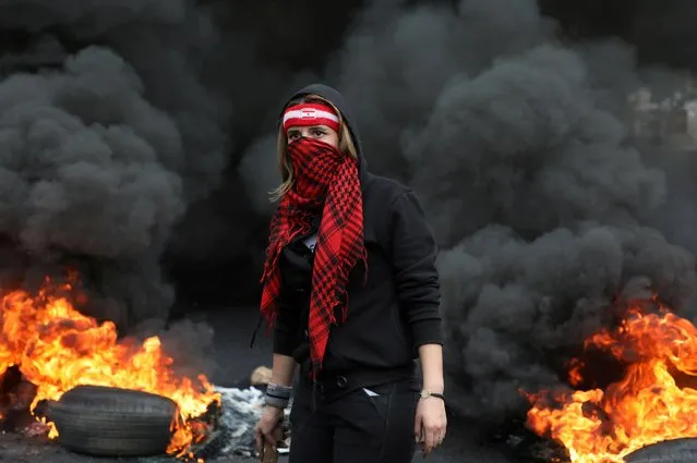
<svg viewBox="0 0 697 463"><path fill-rule="evenodd" d="M532 430L564 444L573 463L622 463L641 447L697 437L697 390L675 379L697 380L692 322L665 307L660 314L632 307L617 329L590 337L591 345L628 363L624 378L605 390L526 393Z"/></svg>

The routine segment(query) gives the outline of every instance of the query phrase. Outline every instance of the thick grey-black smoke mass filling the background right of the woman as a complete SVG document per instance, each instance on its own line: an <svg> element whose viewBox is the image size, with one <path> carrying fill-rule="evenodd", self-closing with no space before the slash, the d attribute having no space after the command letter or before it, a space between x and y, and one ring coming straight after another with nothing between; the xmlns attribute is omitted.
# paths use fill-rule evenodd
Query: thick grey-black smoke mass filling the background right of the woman
<svg viewBox="0 0 697 463"><path fill-rule="evenodd" d="M457 405L502 421L524 410L518 388L564 381L617 301L656 292L689 309L695 259L662 233L686 204L664 169L676 154L654 162L627 120L629 92L680 78L637 71L616 39L563 44L533 1L387 3L362 12L326 77L352 102L369 165L421 194L443 246Z"/></svg>

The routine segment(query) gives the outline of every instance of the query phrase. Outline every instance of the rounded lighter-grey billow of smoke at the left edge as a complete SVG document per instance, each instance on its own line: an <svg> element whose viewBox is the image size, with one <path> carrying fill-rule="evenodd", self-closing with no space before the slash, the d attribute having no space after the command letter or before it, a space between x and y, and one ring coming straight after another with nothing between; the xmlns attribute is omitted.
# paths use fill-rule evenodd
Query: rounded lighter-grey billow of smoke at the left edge
<svg viewBox="0 0 697 463"><path fill-rule="evenodd" d="M14 75L0 106L3 232L32 253L105 258L166 239L183 209L181 137L121 58L86 48L64 72Z"/></svg>

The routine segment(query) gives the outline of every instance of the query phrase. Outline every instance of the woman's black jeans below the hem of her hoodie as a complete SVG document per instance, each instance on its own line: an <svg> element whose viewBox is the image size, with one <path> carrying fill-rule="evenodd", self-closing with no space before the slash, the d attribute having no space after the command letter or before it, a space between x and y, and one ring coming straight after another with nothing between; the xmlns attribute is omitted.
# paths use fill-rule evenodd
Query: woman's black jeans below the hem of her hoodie
<svg viewBox="0 0 697 463"><path fill-rule="evenodd" d="M314 411L311 393L297 394L289 463L410 463L418 393L402 382L366 389L315 398Z"/></svg>

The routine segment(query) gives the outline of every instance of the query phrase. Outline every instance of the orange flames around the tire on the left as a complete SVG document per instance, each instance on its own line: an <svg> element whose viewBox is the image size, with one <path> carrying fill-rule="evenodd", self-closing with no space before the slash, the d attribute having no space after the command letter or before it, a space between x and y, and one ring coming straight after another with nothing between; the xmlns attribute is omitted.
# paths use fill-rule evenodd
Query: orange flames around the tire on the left
<svg viewBox="0 0 697 463"><path fill-rule="evenodd" d="M71 280L75 280L73 276ZM47 279L38 295L14 291L0 297L0 376L19 366L37 387L31 410L41 400L59 400L80 385L134 389L160 394L179 405L168 452L184 454L191 443L205 437L192 422L220 403L205 376L196 380L178 377L173 360L163 353L157 337L142 343L118 340L113 322L97 324L77 312L58 291L71 283L52 287ZM58 436L51 425L49 437Z"/></svg>

